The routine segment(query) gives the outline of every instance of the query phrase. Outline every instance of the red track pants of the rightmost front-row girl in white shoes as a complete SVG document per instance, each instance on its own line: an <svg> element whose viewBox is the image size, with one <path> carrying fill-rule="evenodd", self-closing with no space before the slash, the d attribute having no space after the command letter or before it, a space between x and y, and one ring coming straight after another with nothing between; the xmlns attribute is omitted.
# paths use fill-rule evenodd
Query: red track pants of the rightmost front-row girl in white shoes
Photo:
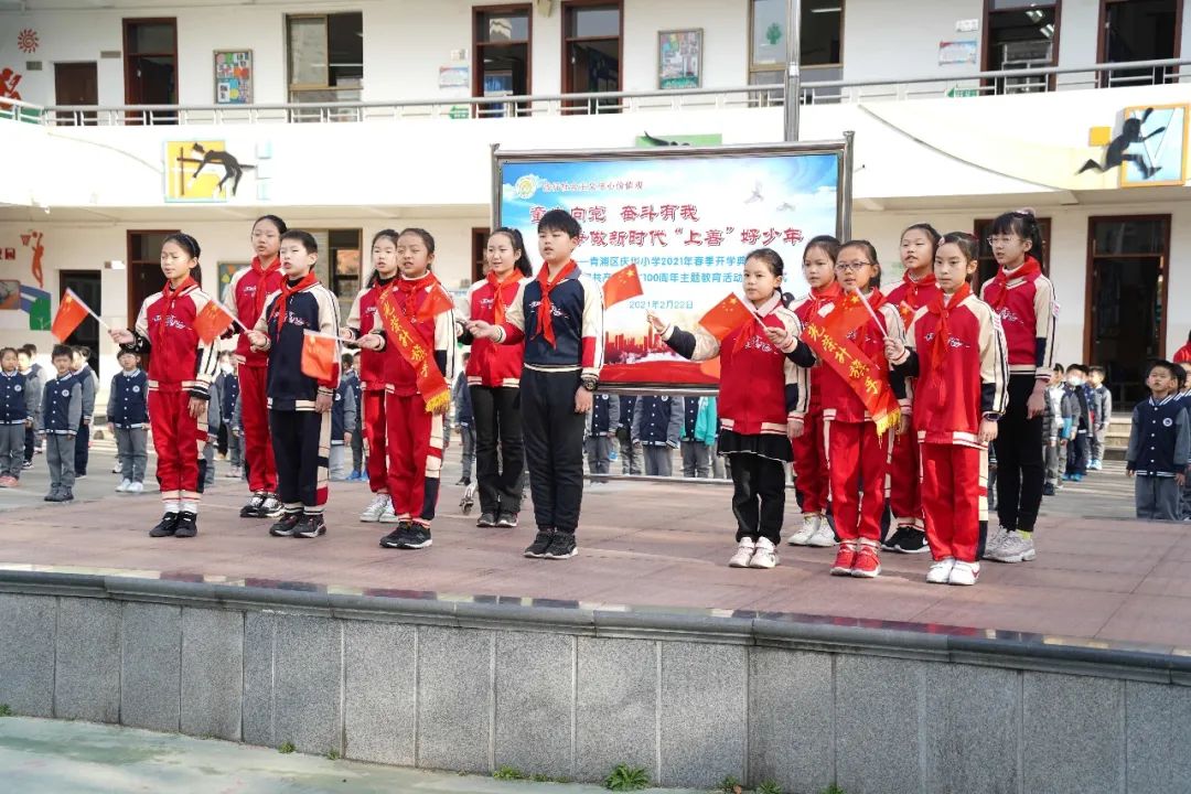
<svg viewBox="0 0 1191 794"><path fill-rule="evenodd" d="M989 529L989 452L960 444L922 444L922 508L935 559L975 562Z"/></svg>

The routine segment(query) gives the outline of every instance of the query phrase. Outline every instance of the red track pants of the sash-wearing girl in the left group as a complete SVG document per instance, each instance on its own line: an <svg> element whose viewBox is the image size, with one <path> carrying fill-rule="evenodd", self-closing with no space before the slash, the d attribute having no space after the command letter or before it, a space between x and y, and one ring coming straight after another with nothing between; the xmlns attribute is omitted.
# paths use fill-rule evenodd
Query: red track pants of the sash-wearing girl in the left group
<svg viewBox="0 0 1191 794"><path fill-rule="evenodd" d="M403 521L429 527L438 506L443 468L443 418L426 411L420 394L387 394L388 493ZM369 464L370 467L370 464Z"/></svg>

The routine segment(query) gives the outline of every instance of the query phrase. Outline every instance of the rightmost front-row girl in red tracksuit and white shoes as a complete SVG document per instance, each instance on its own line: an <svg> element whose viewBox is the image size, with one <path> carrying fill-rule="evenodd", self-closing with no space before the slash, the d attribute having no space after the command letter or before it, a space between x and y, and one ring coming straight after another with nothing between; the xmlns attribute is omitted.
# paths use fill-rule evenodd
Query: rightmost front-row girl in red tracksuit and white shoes
<svg viewBox="0 0 1191 794"><path fill-rule="evenodd" d="M899 376L917 377L922 506L934 584L975 584L989 526L989 443L1009 394L1000 320L972 294L979 243L952 232L935 254L940 292L913 314L905 344L885 343Z"/></svg>

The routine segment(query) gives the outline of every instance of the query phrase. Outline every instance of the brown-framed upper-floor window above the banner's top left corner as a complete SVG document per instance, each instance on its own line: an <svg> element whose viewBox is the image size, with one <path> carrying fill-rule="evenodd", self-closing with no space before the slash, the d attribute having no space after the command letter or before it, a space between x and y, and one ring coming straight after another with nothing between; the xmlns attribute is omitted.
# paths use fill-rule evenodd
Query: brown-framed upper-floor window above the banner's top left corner
<svg viewBox="0 0 1191 794"><path fill-rule="evenodd" d="M530 93L530 6L476 8L473 24L475 75L473 96L526 96ZM505 115L507 108L481 107L481 115Z"/></svg>

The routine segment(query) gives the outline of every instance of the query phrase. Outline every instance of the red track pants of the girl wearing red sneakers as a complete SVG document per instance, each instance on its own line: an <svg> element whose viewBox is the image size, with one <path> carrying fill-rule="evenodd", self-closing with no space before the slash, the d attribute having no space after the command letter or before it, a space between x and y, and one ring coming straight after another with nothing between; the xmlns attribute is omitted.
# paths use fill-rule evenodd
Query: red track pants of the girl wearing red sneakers
<svg viewBox="0 0 1191 794"><path fill-rule="evenodd" d="M892 438L892 430L878 436L872 421L824 420L831 512L841 540L880 542Z"/></svg>

